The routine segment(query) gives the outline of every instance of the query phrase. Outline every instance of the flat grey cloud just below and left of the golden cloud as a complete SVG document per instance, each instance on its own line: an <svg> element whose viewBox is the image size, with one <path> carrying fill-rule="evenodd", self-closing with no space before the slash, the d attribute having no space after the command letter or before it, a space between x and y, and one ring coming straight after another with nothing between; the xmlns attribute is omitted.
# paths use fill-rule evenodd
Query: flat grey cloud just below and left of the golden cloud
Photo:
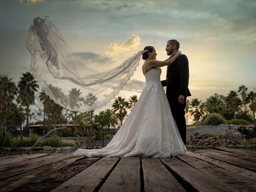
<svg viewBox="0 0 256 192"><path fill-rule="evenodd" d="M104 57L93 52L73 52L72 55L77 58L84 59L86 62L94 62L97 64L112 64L115 62L110 57Z"/></svg>

